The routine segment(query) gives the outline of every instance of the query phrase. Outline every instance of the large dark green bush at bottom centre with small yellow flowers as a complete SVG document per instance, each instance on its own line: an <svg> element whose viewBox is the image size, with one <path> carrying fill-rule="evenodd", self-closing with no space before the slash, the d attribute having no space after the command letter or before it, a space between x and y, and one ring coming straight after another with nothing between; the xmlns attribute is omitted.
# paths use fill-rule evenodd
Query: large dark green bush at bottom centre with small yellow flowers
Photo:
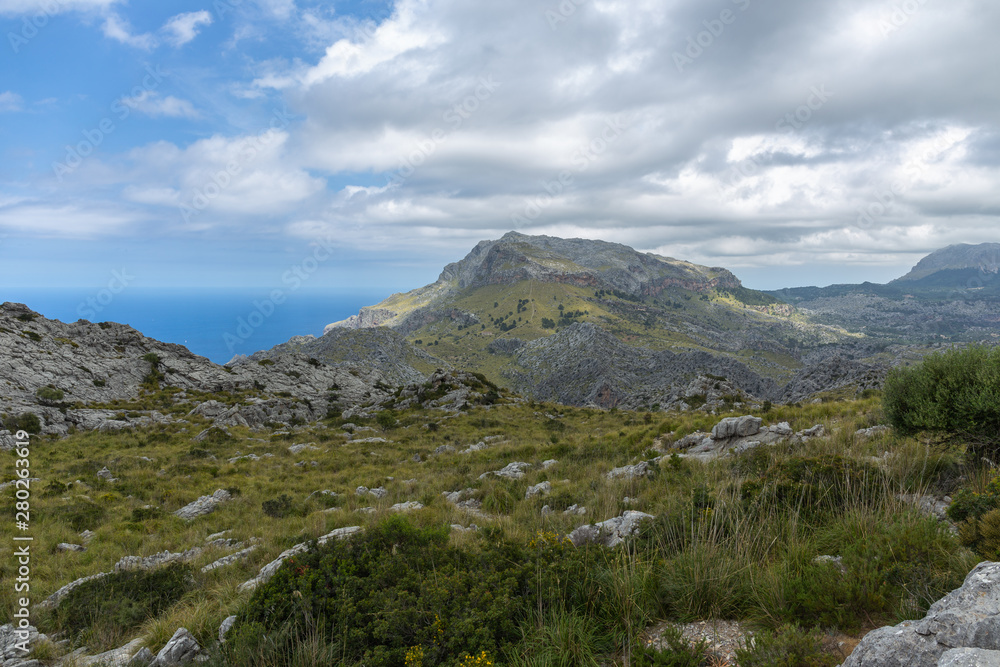
<svg viewBox="0 0 1000 667"><path fill-rule="evenodd" d="M414 647L425 665L482 651L495 660L520 641L532 610L599 603L596 587L587 589L592 550L555 536L527 547L496 531L480 537L476 548L459 548L447 528L392 517L291 558L239 614L227 659L286 664L280 651L322 637L338 664L403 665Z"/></svg>

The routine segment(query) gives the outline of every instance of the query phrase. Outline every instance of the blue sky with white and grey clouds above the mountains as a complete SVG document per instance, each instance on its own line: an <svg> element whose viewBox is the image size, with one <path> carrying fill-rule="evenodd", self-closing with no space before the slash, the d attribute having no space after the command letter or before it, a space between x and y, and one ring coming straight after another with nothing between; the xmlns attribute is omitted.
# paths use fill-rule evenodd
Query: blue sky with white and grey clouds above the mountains
<svg viewBox="0 0 1000 667"><path fill-rule="evenodd" d="M1000 241L998 25L967 0L0 0L0 288L388 293L512 229L758 289L885 282Z"/></svg>

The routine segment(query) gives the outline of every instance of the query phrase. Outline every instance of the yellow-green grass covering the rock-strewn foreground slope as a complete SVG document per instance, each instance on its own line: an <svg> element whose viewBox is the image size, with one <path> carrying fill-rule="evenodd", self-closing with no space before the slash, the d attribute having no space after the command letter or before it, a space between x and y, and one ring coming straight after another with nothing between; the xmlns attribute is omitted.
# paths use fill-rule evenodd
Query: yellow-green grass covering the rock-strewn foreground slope
<svg viewBox="0 0 1000 667"><path fill-rule="evenodd" d="M248 397L224 398L237 403ZM150 393L115 409L141 409L140 403L168 404L177 421L34 439L32 474L42 481L31 499L33 601L76 578L111 571L122 556L204 546L207 536L220 531L239 541L259 540L259 547L242 561L202 573L203 565L231 551L206 548L189 563L191 588L154 617L124 632L78 634L92 652L138 636L155 651L182 625L211 645L221 621L247 603L237 586L281 551L342 526L374 525L391 514L393 504L410 500L425 506L408 515L416 526L476 523L521 544L539 532L564 535L626 509L657 517L629 546L608 552L593 572L608 592L603 606L567 607L525 620L518 650L503 658L512 665L560 664L553 656L562 652L576 656L573 664L626 661L639 634L660 620L740 619L777 636L790 624L803 626L806 635L809 628L856 634L922 616L976 561L933 519L897 499L901 493L951 493L976 478L976 465L966 462L961 446L920 436L855 438L858 429L882 422L878 397L772 406L761 415L766 424L788 421L800 430L821 423L830 435L707 464L668 457L651 478L636 480L609 480L606 473L648 459L656 447L683 435L710 430L729 415L647 417L524 402L455 416L409 410L381 424L352 420L389 440L381 444L348 441L337 419L295 427L287 435L231 428L230 439L192 443L209 423L189 416L189 406L176 403L173 393ZM488 449L460 453L490 435L503 437ZM293 455L288 447L297 443L314 443L318 450ZM434 455L444 444L459 451ZM247 454L260 458L229 462ZM413 460L415 454L421 462ZM548 459L559 463L542 470ZM856 463L830 467L833 460ZM512 461L532 464L523 479L479 479ZM104 466L117 482L97 477ZM816 476L825 469L826 477ZM549 496L525 500L527 486L542 481L552 484ZM388 495L358 496L358 486L382 486ZM441 495L465 488L473 489L488 516L469 514ZM173 515L216 489L230 489L234 499L193 521ZM336 492L336 501L314 495L324 489ZM274 511L282 496L287 504ZM12 514L10 498L0 504ZM571 504L585 506L586 515L559 511ZM542 515L543 505L557 511ZM356 512L366 507L374 513ZM3 531L10 530L6 525ZM84 529L95 533L85 552L55 549L60 542L80 543ZM481 538L452 532L450 539L474 549ZM848 574L814 564L820 555L841 556ZM0 562L0 576L14 576L9 562ZM0 614L10 616L14 603L5 588ZM42 631L52 631L58 619L39 615L37 622ZM808 643L800 635L785 636ZM302 654L298 664L323 664L329 647L323 637L314 640L294 649ZM309 655L320 657L310 662Z"/></svg>

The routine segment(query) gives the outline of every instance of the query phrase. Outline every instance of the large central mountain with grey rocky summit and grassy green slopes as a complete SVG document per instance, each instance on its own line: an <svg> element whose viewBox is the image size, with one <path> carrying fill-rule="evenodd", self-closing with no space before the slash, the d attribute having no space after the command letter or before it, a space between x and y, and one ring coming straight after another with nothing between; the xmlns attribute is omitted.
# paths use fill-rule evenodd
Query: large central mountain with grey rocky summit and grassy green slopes
<svg viewBox="0 0 1000 667"><path fill-rule="evenodd" d="M804 355L820 363L847 346L853 359L860 340L745 288L724 268L517 232L480 242L436 282L362 308L326 335L380 327L442 366L531 397L603 407L701 404L716 384L717 398L737 402L797 400L794 388L815 385L796 381ZM836 369L825 388L870 386L884 372L883 358L852 363L861 366L824 366ZM705 374L716 379L706 385Z"/></svg>

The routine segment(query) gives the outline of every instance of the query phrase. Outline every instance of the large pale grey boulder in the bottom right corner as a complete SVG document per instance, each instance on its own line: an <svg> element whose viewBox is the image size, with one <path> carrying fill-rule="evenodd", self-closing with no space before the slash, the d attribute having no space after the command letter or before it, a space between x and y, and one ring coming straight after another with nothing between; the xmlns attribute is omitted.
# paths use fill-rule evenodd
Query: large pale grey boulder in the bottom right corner
<svg viewBox="0 0 1000 667"><path fill-rule="evenodd" d="M1000 563L980 563L922 620L865 635L843 667L937 667L948 649L1000 650L998 608Z"/></svg>

